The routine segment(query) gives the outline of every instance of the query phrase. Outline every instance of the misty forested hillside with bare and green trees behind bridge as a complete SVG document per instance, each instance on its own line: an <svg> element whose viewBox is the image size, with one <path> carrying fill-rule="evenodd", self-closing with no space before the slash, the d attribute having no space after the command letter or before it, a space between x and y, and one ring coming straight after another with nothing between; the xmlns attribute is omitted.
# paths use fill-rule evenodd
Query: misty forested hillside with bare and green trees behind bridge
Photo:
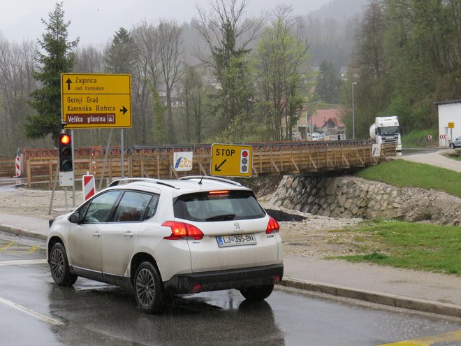
<svg viewBox="0 0 461 346"><path fill-rule="evenodd" d="M325 103L342 103L350 129L353 82L362 138L378 114L399 115L404 131L431 127L432 103L461 96L459 0L335 0L309 15L279 6L266 17L247 15L244 2L211 3L190 23L120 27L103 48L70 44L64 6L50 8L38 42L0 35L0 154L55 146L61 115L46 104L60 97L61 72L131 74L126 145L284 140L303 106ZM105 145L109 131L75 131L75 144Z"/></svg>

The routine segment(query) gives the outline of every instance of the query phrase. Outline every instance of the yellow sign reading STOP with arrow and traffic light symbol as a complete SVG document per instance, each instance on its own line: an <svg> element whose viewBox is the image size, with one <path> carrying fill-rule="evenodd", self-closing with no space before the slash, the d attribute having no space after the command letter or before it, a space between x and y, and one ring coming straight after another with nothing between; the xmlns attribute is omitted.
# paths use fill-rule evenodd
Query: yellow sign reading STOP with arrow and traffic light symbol
<svg viewBox="0 0 461 346"><path fill-rule="evenodd" d="M213 144L211 175L251 177L253 147L250 145Z"/></svg>

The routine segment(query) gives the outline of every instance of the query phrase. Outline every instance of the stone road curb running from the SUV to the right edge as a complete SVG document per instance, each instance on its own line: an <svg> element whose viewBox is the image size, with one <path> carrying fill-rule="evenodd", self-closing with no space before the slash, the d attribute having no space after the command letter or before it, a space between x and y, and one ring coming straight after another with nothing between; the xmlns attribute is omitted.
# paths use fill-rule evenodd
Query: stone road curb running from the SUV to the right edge
<svg viewBox="0 0 461 346"><path fill-rule="evenodd" d="M368 301L370 303L390 305L396 308L432 312L434 314L451 317L461 317L461 306L451 303L441 303L439 301L429 301L426 299L400 296L397 294L387 294L379 291L337 286L335 284L328 284L325 282L298 280L292 277L284 277L280 284L285 287L332 294L333 296L341 296L344 298L358 299L360 301Z"/></svg>

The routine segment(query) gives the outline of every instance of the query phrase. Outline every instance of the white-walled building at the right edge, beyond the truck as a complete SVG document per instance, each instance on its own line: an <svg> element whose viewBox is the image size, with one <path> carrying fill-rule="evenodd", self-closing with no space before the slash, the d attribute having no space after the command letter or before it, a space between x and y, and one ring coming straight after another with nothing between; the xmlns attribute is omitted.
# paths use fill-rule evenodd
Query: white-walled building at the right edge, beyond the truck
<svg viewBox="0 0 461 346"><path fill-rule="evenodd" d="M452 138L461 136L461 100L435 102L439 107L439 146L448 147ZM453 123L453 129L450 128Z"/></svg>

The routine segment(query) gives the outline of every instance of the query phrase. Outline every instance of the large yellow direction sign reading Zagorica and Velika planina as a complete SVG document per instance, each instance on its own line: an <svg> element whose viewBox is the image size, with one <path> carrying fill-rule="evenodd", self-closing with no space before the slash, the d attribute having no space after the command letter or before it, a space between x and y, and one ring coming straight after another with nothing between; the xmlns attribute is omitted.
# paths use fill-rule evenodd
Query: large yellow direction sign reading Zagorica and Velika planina
<svg viewBox="0 0 461 346"><path fill-rule="evenodd" d="M131 76L61 73L66 129L131 127Z"/></svg>

